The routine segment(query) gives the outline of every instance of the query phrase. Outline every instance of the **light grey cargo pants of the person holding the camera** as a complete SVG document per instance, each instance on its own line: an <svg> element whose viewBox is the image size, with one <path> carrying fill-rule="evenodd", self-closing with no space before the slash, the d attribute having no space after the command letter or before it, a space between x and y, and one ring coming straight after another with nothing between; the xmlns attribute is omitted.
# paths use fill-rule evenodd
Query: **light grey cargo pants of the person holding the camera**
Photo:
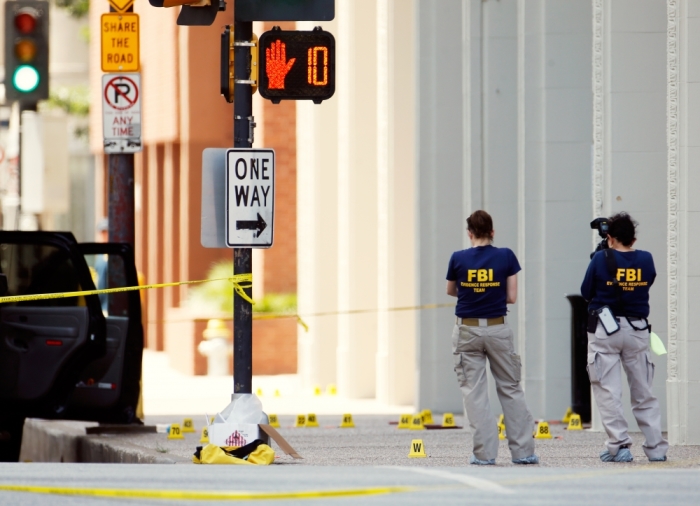
<svg viewBox="0 0 700 506"><path fill-rule="evenodd" d="M644 325L633 323L637 327ZM668 450L668 441L661 435L659 401L651 392L654 364L649 353L649 331L634 329L626 318L620 318L620 330L611 336L600 322L595 334L588 333L588 376L608 433L606 445L611 455L617 455L620 446L632 444L622 411L620 362L630 386L632 413L646 438L644 453L650 459L661 458Z"/></svg>

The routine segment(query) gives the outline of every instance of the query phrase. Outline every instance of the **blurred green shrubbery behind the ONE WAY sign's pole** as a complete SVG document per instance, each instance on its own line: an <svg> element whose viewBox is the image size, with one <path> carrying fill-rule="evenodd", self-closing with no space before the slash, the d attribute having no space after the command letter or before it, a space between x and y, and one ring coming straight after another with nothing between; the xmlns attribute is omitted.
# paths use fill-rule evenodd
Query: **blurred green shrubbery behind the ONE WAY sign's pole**
<svg viewBox="0 0 700 506"><path fill-rule="evenodd" d="M233 262L222 261L212 265L207 279L228 278L233 275ZM255 313L296 313L296 294L271 293L262 298L253 294ZM190 290L190 307L203 312L233 312L233 284L230 281L202 283Z"/></svg>

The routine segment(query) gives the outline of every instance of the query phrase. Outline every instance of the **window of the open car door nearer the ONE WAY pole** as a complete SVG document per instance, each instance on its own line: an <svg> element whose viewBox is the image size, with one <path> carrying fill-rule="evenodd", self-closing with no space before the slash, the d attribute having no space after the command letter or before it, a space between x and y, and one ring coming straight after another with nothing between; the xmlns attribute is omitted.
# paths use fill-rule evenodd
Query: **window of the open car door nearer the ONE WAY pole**
<svg viewBox="0 0 700 506"><path fill-rule="evenodd" d="M119 255L86 254L92 280L98 290L126 286L124 259ZM100 304L105 316L129 316L127 292L100 294Z"/></svg>

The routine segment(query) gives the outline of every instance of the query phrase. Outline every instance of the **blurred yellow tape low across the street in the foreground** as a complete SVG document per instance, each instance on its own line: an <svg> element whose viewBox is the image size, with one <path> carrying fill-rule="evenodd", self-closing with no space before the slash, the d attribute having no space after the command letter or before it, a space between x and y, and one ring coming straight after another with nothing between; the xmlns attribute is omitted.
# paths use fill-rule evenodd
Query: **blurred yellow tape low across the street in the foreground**
<svg viewBox="0 0 700 506"><path fill-rule="evenodd" d="M119 489L119 488L74 488L74 487L41 487L31 485L0 485L0 492L29 492L34 494L88 496L88 497L118 497L137 499L169 499L195 501L251 501L271 499L319 499L322 497L353 497L382 494L399 494L414 492L417 487L371 487L340 490L300 490L281 492L207 492L200 490L148 490L148 489Z"/></svg>

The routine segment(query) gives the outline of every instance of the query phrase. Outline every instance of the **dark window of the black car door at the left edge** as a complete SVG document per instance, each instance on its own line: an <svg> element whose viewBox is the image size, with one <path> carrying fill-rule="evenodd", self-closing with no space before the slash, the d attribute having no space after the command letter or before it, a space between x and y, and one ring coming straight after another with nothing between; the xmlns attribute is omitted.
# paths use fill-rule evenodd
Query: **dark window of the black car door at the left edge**
<svg viewBox="0 0 700 506"><path fill-rule="evenodd" d="M48 244L0 244L0 270L7 276L7 295L81 290L78 273L67 251ZM23 301L16 306L83 306L83 297Z"/></svg>

